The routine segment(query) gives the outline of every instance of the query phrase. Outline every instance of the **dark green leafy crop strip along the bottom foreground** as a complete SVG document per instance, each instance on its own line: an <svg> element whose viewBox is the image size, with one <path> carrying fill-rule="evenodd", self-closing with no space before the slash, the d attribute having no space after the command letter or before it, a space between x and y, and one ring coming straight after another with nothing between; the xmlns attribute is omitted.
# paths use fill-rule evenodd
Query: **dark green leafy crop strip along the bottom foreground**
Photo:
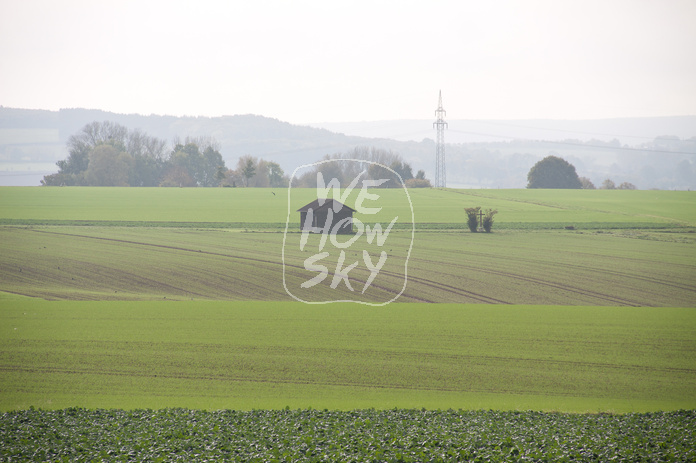
<svg viewBox="0 0 696 463"><path fill-rule="evenodd" d="M0 461L694 461L696 411L22 410Z"/></svg>

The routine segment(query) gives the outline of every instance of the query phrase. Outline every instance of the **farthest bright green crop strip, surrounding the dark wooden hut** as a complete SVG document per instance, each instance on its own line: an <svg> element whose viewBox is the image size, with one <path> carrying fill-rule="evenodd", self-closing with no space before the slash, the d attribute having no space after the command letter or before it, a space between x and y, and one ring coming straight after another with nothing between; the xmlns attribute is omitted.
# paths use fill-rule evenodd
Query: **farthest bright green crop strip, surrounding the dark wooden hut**
<svg viewBox="0 0 696 463"><path fill-rule="evenodd" d="M410 217L403 191L377 189L380 205ZM696 226L696 192L641 190L409 190L418 224L464 224L464 208L499 211L505 223L680 224ZM356 196L356 194L354 194ZM0 187L0 223L38 221L179 222L285 224L316 199L316 189ZM354 201L354 198L353 198ZM349 203L348 205L354 205ZM385 217L356 217L384 221ZM391 220L391 217L389 218ZM389 222L387 220L387 222ZM67 222L66 222L67 221Z"/></svg>

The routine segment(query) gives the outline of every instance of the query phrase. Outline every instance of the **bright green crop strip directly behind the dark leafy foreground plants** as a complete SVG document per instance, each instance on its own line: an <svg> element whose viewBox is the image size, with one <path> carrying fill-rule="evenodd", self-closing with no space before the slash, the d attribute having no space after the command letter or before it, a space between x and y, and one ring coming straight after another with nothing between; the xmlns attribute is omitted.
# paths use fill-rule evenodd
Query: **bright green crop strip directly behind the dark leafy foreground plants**
<svg viewBox="0 0 696 463"><path fill-rule="evenodd" d="M0 312L0 410L696 406L696 313L46 302Z"/></svg>

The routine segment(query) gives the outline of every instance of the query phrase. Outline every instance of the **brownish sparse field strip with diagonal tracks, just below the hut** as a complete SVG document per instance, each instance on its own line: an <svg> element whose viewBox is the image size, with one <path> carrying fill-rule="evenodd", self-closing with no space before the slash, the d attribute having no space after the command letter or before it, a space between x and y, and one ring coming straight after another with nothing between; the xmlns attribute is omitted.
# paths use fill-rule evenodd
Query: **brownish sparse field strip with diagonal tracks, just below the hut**
<svg viewBox="0 0 696 463"><path fill-rule="evenodd" d="M637 233L637 232L634 232ZM688 234L556 232L418 232L408 261L405 302L693 306L696 267ZM483 234L481 234L483 235ZM643 236L644 235L644 236ZM0 290L45 299L288 300L300 289L309 247L300 234L122 227L0 227ZM386 265L366 297L389 300L404 287L413 235L393 231ZM634 239L644 238L644 239ZM294 241L293 241L294 240ZM316 241L316 240L315 240ZM353 285L368 273L362 238L349 249ZM374 249L373 249L374 248ZM318 248L314 247L314 252ZM337 250L321 261L333 273ZM376 262L376 260L375 260ZM329 264L331 263L331 265ZM362 272L362 273L361 273ZM327 278L312 300L353 300ZM372 289L371 288L371 289ZM341 294L339 292L343 291ZM340 297L339 297L340 296ZM310 300L305 298L304 300Z"/></svg>

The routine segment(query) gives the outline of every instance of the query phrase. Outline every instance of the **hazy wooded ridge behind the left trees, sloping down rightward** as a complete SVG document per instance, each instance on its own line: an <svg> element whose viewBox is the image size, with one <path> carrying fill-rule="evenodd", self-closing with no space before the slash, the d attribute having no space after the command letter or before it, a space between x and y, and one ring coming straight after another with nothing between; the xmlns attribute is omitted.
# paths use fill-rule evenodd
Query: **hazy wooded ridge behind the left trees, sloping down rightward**
<svg viewBox="0 0 696 463"><path fill-rule="evenodd" d="M116 122L168 142L175 137L212 136L220 143L225 163L232 168L239 157L249 154L276 161L292 172L298 165L325 154L370 144L360 137L255 115L173 117L0 107L0 183L37 185L43 175L57 171L56 161L67 156L68 138L93 121Z"/></svg>

